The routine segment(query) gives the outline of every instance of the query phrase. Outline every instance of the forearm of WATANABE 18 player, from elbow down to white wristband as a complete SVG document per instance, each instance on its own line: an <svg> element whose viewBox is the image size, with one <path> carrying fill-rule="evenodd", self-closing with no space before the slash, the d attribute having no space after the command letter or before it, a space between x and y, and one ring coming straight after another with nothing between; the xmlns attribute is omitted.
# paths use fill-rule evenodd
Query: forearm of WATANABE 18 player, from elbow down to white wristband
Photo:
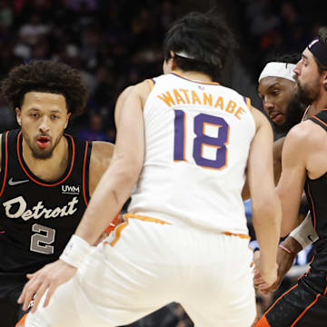
<svg viewBox="0 0 327 327"><path fill-rule="evenodd" d="M75 234L93 245L130 196L138 173L113 163L104 173Z"/></svg>

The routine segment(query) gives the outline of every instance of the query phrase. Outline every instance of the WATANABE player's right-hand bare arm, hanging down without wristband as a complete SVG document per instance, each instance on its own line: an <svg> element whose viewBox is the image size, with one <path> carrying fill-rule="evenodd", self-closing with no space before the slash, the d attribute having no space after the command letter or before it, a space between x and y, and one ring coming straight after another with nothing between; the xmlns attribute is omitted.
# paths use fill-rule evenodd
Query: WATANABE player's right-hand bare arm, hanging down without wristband
<svg viewBox="0 0 327 327"><path fill-rule="evenodd" d="M262 252L259 271L265 284L260 287L264 287L276 278L282 213L273 181L272 127L260 111L253 108L252 112L256 134L250 148L247 177L252 197L253 227Z"/></svg>

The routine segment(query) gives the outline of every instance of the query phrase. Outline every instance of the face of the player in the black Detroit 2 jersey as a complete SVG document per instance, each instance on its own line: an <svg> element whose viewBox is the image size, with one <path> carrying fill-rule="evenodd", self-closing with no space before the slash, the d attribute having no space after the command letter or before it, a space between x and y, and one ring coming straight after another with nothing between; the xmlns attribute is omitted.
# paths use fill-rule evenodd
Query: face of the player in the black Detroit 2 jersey
<svg viewBox="0 0 327 327"><path fill-rule="evenodd" d="M61 141L70 114L62 94L28 92L16 118L25 143L36 159L50 158Z"/></svg>

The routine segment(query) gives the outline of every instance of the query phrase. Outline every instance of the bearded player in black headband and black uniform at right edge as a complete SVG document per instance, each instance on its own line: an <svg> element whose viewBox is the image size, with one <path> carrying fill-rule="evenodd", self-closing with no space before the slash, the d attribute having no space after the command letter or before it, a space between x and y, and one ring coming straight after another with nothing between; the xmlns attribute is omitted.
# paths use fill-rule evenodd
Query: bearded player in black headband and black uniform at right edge
<svg viewBox="0 0 327 327"><path fill-rule="evenodd" d="M272 304L257 327L326 326L327 322L327 29L319 31L294 69L297 94L310 105L312 118L296 125L282 150L282 234L299 224L297 211L304 189L319 240L311 267Z"/></svg>

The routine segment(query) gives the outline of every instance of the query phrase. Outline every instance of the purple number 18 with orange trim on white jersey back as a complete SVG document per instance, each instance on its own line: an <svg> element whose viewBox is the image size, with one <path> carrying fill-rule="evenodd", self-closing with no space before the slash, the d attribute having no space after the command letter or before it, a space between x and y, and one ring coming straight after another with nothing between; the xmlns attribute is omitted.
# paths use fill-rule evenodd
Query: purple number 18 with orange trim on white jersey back
<svg viewBox="0 0 327 327"><path fill-rule="evenodd" d="M183 110L174 110L174 142L173 160L184 161L185 159L185 113ZM204 134L207 126L213 126L218 130L217 137ZM197 165L206 168L222 170L227 165L227 148L229 138L229 125L222 117L210 114L197 114L193 121L193 158ZM209 146L215 149L215 159L203 157L203 147Z"/></svg>

